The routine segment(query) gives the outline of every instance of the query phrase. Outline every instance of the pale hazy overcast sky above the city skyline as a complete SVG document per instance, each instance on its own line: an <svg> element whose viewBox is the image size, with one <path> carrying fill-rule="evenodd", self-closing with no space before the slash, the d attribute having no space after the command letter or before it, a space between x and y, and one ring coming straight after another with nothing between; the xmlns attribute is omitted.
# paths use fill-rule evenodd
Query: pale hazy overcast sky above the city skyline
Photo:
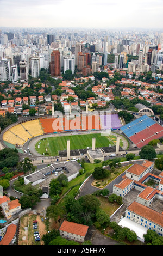
<svg viewBox="0 0 163 256"><path fill-rule="evenodd" d="M162 28L162 0L0 0L0 27Z"/></svg>

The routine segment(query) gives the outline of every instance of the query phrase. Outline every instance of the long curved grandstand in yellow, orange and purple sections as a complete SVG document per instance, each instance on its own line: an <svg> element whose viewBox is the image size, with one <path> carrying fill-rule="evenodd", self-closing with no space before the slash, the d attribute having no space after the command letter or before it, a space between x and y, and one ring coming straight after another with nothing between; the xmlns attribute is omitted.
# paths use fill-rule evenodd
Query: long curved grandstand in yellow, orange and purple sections
<svg viewBox="0 0 163 256"><path fill-rule="evenodd" d="M122 126L118 114L77 115L68 117L37 118L10 127L3 133L3 141L22 147L29 139L47 133L118 129Z"/></svg>

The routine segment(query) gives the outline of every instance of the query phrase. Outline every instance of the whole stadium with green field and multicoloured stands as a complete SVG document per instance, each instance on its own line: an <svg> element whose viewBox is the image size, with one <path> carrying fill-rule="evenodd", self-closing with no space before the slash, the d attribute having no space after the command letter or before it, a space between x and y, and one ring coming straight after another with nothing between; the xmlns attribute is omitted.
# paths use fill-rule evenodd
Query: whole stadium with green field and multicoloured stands
<svg viewBox="0 0 163 256"><path fill-rule="evenodd" d="M105 132L111 131L109 135ZM102 136L102 133L103 136ZM34 117L19 121L4 129L1 144L17 148L20 153L33 156L67 157L67 140L71 141L70 157L86 155L96 139L96 148L106 156L116 152L116 138L120 136L118 153L140 150L153 139L163 136L163 128L152 117L143 115L123 125L117 112L114 114L69 115ZM30 146L30 150L29 147ZM27 150L28 148L28 150Z"/></svg>

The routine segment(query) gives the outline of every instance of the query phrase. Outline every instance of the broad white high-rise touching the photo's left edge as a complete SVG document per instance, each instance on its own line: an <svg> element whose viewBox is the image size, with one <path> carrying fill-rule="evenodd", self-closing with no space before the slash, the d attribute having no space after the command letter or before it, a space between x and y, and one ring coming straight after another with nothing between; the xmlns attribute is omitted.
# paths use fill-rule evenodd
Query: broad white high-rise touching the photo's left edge
<svg viewBox="0 0 163 256"><path fill-rule="evenodd" d="M0 60L0 79L1 81L11 80L11 63L9 59L2 58Z"/></svg>

